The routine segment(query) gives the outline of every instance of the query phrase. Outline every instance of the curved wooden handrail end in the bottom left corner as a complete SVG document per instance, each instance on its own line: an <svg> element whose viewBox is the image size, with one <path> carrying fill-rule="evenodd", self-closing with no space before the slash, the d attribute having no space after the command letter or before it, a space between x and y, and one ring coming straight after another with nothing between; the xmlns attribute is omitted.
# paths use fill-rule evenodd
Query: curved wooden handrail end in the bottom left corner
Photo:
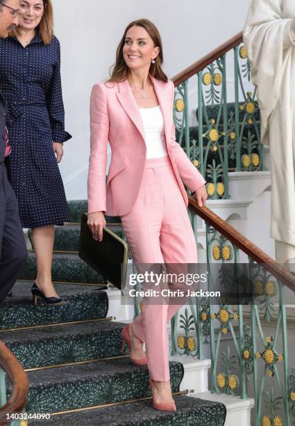
<svg viewBox="0 0 295 426"><path fill-rule="evenodd" d="M8 402L0 408L0 425L8 425L12 420L5 420L7 413L22 412L28 397L28 377L12 352L0 340L0 366L12 383L12 394Z"/></svg>

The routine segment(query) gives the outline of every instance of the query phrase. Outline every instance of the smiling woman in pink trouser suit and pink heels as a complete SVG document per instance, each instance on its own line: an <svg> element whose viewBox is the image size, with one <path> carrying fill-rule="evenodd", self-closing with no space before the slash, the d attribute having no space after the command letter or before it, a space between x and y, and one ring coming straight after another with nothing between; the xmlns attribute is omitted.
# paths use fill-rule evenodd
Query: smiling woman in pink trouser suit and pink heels
<svg viewBox="0 0 295 426"><path fill-rule="evenodd" d="M155 25L147 19L131 22L117 48L112 77L93 87L90 102L88 226L101 241L104 214L121 216L135 265L196 263L184 184L200 206L207 198L205 180L176 143L174 84L162 61ZM108 141L112 159L106 184ZM179 307L146 303L122 331L131 362L149 368L153 407L165 411L176 410L167 322Z"/></svg>

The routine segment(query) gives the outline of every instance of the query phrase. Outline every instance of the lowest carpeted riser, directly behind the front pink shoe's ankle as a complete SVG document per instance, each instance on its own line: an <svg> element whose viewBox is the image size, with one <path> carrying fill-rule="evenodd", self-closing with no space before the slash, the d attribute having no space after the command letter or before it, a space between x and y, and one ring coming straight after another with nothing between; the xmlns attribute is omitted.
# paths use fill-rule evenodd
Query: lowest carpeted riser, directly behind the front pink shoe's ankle
<svg viewBox="0 0 295 426"><path fill-rule="evenodd" d="M181 364L170 365L171 388L178 391L183 375ZM151 396L147 368L135 368L115 374L99 377L85 377L75 381L69 377L66 384L42 384L31 388L28 393L26 411L34 413L52 413L81 407L128 401L135 398Z"/></svg>

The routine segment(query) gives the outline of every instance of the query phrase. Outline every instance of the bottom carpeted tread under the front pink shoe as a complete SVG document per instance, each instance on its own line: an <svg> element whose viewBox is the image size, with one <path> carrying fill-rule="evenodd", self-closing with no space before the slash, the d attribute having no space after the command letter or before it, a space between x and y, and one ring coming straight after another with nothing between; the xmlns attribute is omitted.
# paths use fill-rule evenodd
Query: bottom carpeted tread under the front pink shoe
<svg viewBox="0 0 295 426"><path fill-rule="evenodd" d="M90 409L78 413L51 416L49 420L33 421L32 426L223 426L226 407L219 402L200 400L184 395L175 396L177 410L155 410L151 400L130 402L114 407Z"/></svg>

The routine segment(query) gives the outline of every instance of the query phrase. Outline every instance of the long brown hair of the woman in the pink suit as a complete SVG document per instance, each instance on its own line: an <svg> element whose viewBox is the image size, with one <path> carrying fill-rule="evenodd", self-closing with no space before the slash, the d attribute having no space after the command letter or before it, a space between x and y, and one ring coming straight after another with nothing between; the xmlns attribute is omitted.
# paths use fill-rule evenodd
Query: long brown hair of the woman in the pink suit
<svg viewBox="0 0 295 426"><path fill-rule="evenodd" d="M116 62L114 65L112 65L110 70L111 77L108 81L124 81L128 76L129 68L124 61L123 47L125 45L126 34L131 26L142 26L142 28L144 28L149 33L149 36L153 40L153 45L155 47L160 47L160 52L155 58L155 63L151 63L149 73L155 77L155 79L159 79L165 82L168 81L167 75L162 70L163 50L161 36L155 24L149 21L149 19L137 19L136 21L130 22L130 24L128 24L126 27L124 35L119 42L119 46L117 47Z"/></svg>

